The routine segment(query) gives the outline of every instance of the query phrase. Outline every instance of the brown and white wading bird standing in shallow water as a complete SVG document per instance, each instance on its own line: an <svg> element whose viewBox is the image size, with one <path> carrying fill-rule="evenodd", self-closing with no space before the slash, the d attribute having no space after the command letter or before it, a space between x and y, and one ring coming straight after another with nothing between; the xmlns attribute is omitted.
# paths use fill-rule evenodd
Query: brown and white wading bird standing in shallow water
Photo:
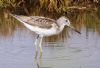
<svg viewBox="0 0 100 68"><path fill-rule="evenodd" d="M74 31L80 33L73 26L71 26L69 19L65 16L61 16L59 19L54 20L42 16L10 15L23 23L28 29L38 34L35 41L36 52L38 51L37 48L39 46L40 52L42 53L43 50L41 43L44 36L59 34L65 26L68 26Z"/></svg>

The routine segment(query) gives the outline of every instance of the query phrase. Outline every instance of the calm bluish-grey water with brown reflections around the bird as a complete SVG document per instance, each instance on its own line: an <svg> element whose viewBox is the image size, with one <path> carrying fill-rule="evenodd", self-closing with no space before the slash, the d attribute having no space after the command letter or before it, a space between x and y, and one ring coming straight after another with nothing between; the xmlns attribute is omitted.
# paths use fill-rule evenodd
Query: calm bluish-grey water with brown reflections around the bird
<svg viewBox="0 0 100 68"><path fill-rule="evenodd" d="M65 28L58 36L44 38L38 59L37 35L11 17L0 17L0 68L100 68L100 18L97 13L82 14L71 18L81 35Z"/></svg>

